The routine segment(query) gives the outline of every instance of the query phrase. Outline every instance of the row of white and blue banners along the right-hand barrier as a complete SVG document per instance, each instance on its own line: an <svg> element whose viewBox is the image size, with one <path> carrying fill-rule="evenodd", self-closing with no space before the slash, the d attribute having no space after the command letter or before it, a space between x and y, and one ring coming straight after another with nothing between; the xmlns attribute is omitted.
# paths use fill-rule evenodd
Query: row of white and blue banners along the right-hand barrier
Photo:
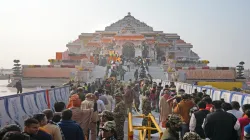
<svg viewBox="0 0 250 140"><path fill-rule="evenodd" d="M166 84L170 84L169 81L161 81L160 79L154 79L153 80L156 83L162 82L162 86L165 86ZM202 92L202 90L206 90L207 94L212 98L212 100L220 100L224 99L225 102L232 102L237 101L239 102L240 106L244 104L250 104L250 94L247 93L241 93L241 92L235 92L235 91L228 91L228 90L222 90L222 89L216 89L214 87L206 87L206 86L197 86L187 83L181 83L181 82L175 82L176 90L184 89L187 94L192 94L195 89L197 89L198 92Z"/></svg>

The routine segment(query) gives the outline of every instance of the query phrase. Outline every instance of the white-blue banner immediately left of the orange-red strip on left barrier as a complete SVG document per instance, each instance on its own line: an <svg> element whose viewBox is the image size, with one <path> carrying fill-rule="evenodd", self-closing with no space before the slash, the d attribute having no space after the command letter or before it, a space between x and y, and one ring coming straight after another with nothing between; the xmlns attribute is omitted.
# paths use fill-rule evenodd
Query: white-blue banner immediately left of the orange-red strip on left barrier
<svg viewBox="0 0 250 140"><path fill-rule="evenodd" d="M35 103L39 112L42 112L44 109L48 108L45 90L38 91L34 93Z"/></svg>

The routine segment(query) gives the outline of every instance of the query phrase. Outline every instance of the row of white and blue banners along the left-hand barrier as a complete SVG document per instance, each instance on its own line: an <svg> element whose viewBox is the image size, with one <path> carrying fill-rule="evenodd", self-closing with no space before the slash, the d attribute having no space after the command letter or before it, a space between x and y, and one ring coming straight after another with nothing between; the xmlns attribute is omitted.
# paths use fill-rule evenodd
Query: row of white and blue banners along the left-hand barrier
<svg viewBox="0 0 250 140"><path fill-rule="evenodd" d="M24 128L24 120L52 109L56 102L68 103L70 87L39 90L34 92L0 97L0 128L8 124L18 124Z"/></svg>

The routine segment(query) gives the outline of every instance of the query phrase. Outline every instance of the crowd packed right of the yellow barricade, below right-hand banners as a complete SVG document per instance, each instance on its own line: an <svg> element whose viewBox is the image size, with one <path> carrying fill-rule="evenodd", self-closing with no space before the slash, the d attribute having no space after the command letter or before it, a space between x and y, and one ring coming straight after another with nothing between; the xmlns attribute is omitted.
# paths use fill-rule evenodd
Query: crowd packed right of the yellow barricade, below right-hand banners
<svg viewBox="0 0 250 140"><path fill-rule="evenodd" d="M160 99L162 140L250 140L250 104L212 101L206 91L188 95L165 86ZM173 95L174 94L174 95Z"/></svg>

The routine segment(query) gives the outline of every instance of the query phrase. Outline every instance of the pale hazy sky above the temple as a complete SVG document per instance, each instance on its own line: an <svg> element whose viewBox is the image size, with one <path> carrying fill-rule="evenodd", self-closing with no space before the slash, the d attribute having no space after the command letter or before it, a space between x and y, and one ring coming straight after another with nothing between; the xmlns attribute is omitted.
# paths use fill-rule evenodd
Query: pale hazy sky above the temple
<svg viewBox="0 0 250 140"><path fill-rule="evenodd" d="M250 68L250 0L0 0L0 67L48 64L83 32L128 12L154 30L178 33L211 66Z"/></svg>

